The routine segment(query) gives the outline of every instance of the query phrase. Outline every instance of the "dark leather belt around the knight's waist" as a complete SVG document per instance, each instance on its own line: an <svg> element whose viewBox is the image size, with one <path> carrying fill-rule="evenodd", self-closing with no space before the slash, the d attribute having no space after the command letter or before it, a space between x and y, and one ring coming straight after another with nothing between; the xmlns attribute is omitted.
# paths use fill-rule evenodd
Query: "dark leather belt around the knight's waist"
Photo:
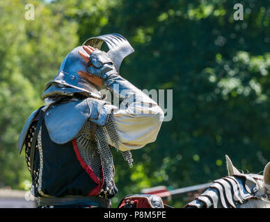
<svg viewBox="0 0 270 222"><path fill-rule="evenodd" d="M63 196L63 197L39 197L38 205L92 205L104 208L111 207L111 200L98 196Z"/></svg>

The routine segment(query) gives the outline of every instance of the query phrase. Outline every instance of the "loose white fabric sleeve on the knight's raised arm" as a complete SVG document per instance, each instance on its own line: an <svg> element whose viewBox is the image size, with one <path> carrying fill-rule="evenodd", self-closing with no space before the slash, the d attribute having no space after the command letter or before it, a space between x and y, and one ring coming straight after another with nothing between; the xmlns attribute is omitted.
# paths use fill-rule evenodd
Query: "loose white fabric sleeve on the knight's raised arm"
<svg viewBox="0 0 270 222"><path fill-rule="evenodd" d="M120 151L143 148L154 142L163 119L164 111L143 92L136 99L125 99L120 108L113 109Z"/></svg>

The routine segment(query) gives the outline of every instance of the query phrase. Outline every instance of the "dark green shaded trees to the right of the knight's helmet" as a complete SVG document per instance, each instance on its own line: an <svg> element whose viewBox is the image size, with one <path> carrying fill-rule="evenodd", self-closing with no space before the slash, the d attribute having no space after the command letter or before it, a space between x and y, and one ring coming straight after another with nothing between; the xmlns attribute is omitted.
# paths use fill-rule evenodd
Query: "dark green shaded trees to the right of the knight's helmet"
<svg viewBox="0 0 270 222"><path fill-rule="evenodd" d="M133 152L150 187L221 178L225 154L255 173L269 160L269 1L241 1L244 21L233 19L235 3L122 1L104 27L136 51L122 76L141 89L173 89L173 121L157 142ZM136 174L123 175L120 190L138 187Z"/></svg>

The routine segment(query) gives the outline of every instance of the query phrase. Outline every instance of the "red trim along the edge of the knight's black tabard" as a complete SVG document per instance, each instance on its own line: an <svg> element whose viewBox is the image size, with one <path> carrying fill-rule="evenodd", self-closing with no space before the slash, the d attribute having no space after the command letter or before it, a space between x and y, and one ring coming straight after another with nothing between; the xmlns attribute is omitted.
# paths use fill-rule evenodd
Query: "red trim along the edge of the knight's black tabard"
<svg viewBox="0 0 270 222"><path fill-rule="evenodd" d="M97 184L97 186L90 191L88 196L97 196L98 194L100 194L100 190L102 189L102 187L104 185L104 171L103 171L103 168L102 168L102 171L101 171L102 175L101 175L101 180L100 180L99 178L97 178L97 176L95 176L95 173L94 173L93 169L91 169L88 166L88 164L86 164L83 157L81 157L81 154L79 153L79 149L78 149L78 146L77 146L76 139L72 140L72 145L73 145L73 149L74 149L74 152L76 154L77 160L79 160L79 163L81 164L81 167L86 171L86 173L88 173L90 178Z"/></svg>

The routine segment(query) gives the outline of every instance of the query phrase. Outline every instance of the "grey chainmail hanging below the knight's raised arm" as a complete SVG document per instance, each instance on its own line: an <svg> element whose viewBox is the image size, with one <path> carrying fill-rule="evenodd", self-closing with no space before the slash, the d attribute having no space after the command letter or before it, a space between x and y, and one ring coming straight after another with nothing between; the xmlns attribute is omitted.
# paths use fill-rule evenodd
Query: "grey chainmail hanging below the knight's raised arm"
<svg viewBox="0 0 270 222"><path fill-rule="evenodd" d="M102 195L106 193L113 196L114 183L114 163L111 148L119 151L119 137L112 114L109 114L105 126L98 126L92 121L86 121L76 138L77 146L81 157L86 164L93 169L97 178L102 178L102 169L104 173L104 187ZM122 152L124 160L127 160L132 167L132 153L130 151Z"/></svg>

